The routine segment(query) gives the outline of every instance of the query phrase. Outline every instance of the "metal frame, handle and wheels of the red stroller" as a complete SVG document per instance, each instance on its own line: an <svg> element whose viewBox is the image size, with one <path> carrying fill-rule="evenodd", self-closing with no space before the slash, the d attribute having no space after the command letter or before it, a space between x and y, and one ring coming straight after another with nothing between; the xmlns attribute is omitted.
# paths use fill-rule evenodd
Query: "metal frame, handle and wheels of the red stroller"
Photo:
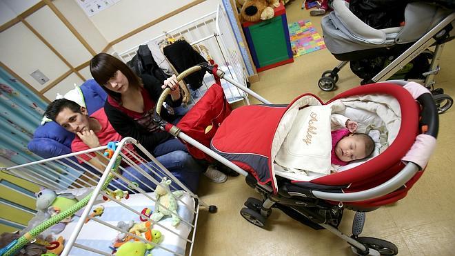
<svg viewBox="0 0 455 256"><path fill-rule="evenodd" d="M190 75L192 72L205 69L207 72L213 75L223 78L226 81L232 83L237 88L252 95L263 104L271 104L256 92L246 88L245 86L237 83L232 78L225 76L225 73L221 70L216 70L216 67L208 65L208 63L202 63L200 66L194 66L185 70L177 77L177 80L183 79L185 76ZM215 71L216 70L216 71ZM407 81L394 81L395 83L404 86ZM250 197L245 201L245 208L242 208L240 213L250 223L263 227L267 217L272 213L272 208L279 208L283 212L293 219L300 221L301 223L310 226L316 230L325 228L334 235L345 240L350 244L352 251L357 255L396 255L398 248L391 242L387 242L383 239L374 237L359 237L365 224L365 212L376 210L376 208L359 208L357 206L347 206L351 210L356 211L354 215L354 221L352 224L352 235L345 235L341 230L338 230L338 225L341 222L343 215L343 203L350 201L361 201L367 199L373 199L392 193L394 190L400 188L409 181L414 175L420 170L420 167L412 162L408 162L399 173L394 177L386 181L385 183L378 185L374 188L363 190L355 193L330 193L312 188L303 188L296 186L288 182L286 186L283 184L278 189L278 193L274 193L272 186L267 184L259 184L256 178L247 173L245 170L236 166L228 159L225 159L221 155L217 154L207 146L199 143L192 137L186 135L176 126L168 124L166 121L161 119L159 113L161 112L161 106L165 99L170 93L170 88L165 88L161 97L156 104L155 121L160 123L161 129L168 130L174 137L179 137L183 141L188 142L192 146L199 148L199 150L205 152L210 157L213 157L217 161L220 161L225 166L228 166L237 173L245 176L246 183L254 188L256 192L261 194L262 200ZM438 115L436 106L430 93L425 93L417 99L423 107L422 115L423 119L429 120L429 129L425 132L436 138L438 132ZM340 204L332 205L326 201L320 200L325 199L329 201L339 201Z"/></svg>

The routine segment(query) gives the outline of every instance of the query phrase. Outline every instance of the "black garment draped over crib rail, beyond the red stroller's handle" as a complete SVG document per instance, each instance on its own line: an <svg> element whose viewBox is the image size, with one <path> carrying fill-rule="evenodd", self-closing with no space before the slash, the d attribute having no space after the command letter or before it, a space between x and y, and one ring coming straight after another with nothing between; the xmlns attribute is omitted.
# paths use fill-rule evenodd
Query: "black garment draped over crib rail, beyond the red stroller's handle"
<svg viewBox="0 0 455 256"><path fill-rule="evenodd" d="M163 48L165 57L168 58L172 66L177 72L181 73L192 66L196 66L199 63L207 62L196 50L190 46L185 40L177 40L168 46ZM196 90L202 86L202 80L204 79L205 70L200 70L188 75L184 80L192 90Z"/></svg>

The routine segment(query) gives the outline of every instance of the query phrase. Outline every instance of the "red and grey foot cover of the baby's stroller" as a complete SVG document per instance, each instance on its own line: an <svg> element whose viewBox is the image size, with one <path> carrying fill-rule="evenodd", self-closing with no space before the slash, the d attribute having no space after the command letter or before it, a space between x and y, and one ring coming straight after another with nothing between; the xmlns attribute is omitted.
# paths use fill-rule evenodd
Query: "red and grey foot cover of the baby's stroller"
<svg viewBox="0 0 455 256"><path fill-rule="evenodd" d="M212 139L212 150L254 175L260 184L272 181L270 138L286 109L256 105L233 110Z"/></svg>

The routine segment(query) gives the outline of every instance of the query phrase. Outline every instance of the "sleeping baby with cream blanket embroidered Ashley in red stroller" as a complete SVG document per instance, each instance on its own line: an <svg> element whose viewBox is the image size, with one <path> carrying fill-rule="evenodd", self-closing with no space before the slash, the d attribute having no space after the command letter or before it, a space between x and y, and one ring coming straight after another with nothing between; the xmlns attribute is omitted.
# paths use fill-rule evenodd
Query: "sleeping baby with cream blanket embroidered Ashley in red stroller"
<svg viewBox="0 0 455 256"><path fill-rule="evenodd" d="M276 155L275 164L284 172L330 175L340 166L372 155L374 140L356 132L356 121L333 112L330 106L309 108L296 111L294 124Z"/></svg>

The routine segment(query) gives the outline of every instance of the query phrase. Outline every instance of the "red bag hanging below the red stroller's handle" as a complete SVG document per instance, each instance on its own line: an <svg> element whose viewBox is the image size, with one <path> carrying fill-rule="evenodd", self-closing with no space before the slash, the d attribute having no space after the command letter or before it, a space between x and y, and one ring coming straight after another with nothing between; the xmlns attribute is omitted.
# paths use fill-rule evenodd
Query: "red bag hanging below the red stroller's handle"
<svg viewBox="0 0 455 256"><path fill-rule="evenodd" d="M186 135L210 147L210 140L216 130L218 130L221 122L230 114L231 110L225 98L223 88L219 84L214 83L176 126ZM213 160L212 157L205 155L198 148L185 143L185 141L183 143L187 146L188 152L194 158L206 159L208 161Z"/></svg>

